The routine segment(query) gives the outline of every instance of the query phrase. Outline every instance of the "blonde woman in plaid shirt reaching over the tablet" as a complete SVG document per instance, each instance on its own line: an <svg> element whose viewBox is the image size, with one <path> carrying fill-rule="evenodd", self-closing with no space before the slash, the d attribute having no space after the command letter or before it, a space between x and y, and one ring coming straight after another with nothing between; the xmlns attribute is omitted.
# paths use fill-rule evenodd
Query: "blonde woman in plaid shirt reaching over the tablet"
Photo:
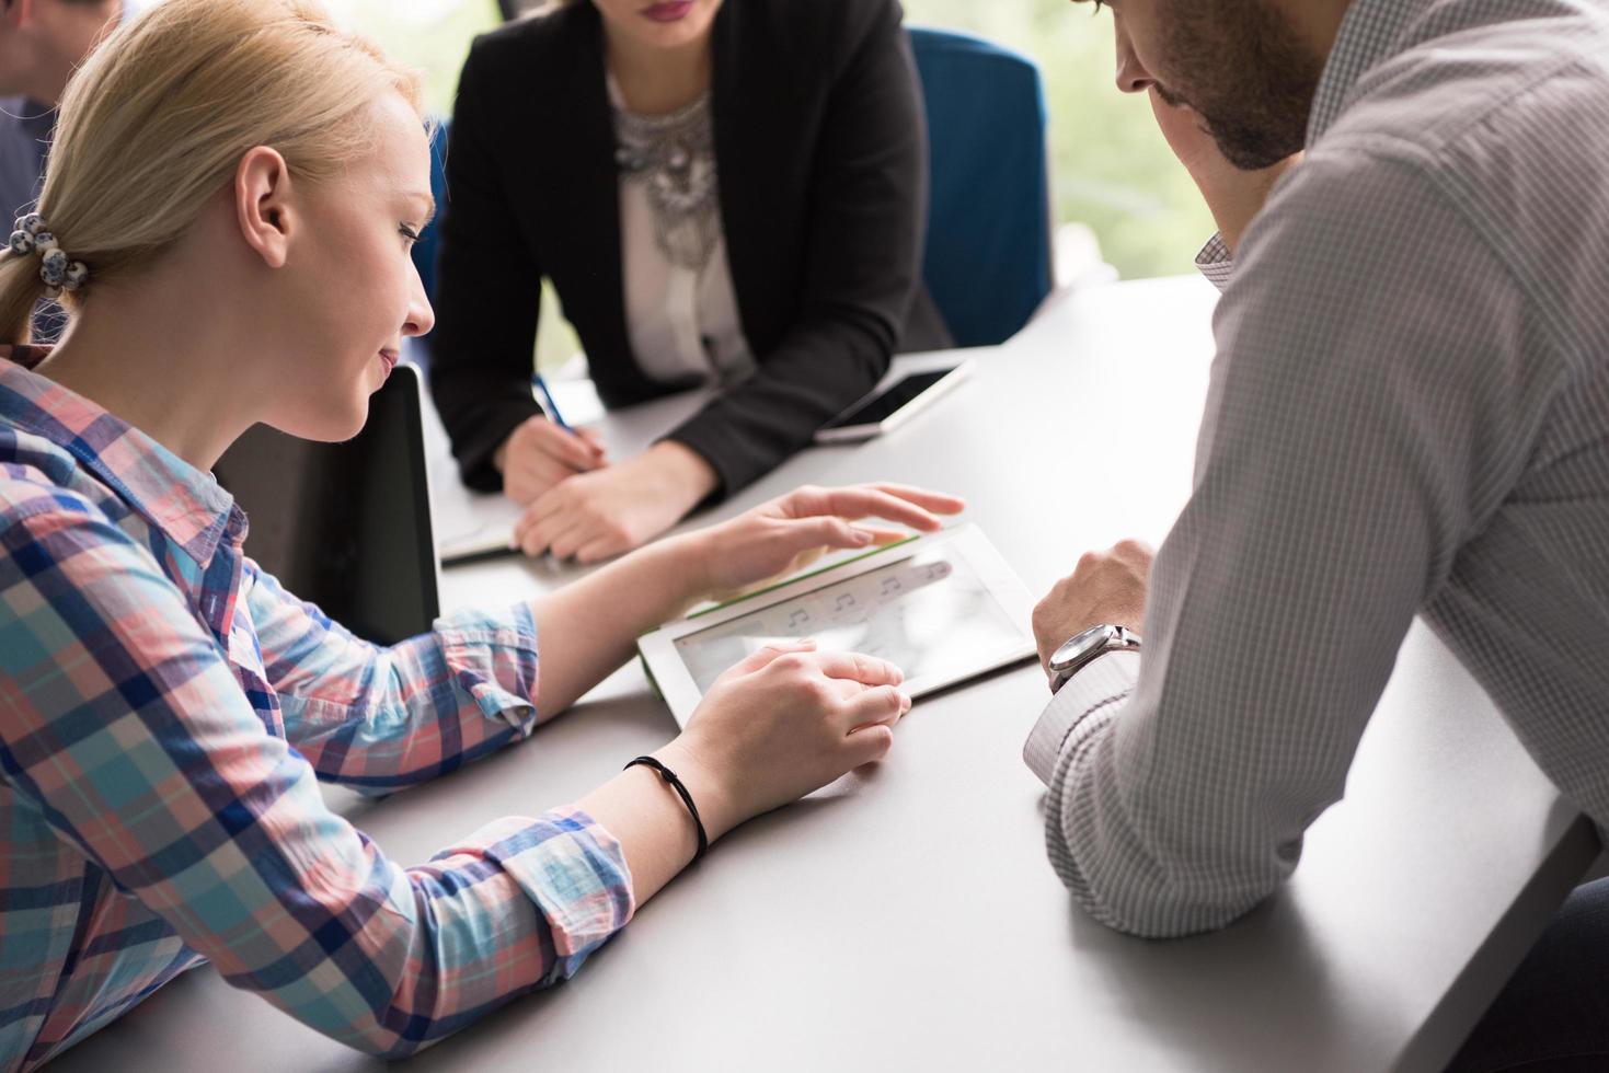
<svg viewBox="0 0 1609 1073"><path fill-rule="evenodd" d="M0 254L0 1067L32 1068L209 959L354 1047L405 1055L574 973L706 840L880 758L899 672L756 653L685 734L571 808L404 870L315 780L399 788L526 737L698 595L911 489L801 491L552 597L354 640L241 557L208 476L257 421L364 423L431 310L412 76L311 0L167 0L63 101ZM47 291L72 312L26 346ZM621 758L629 761L631 758Z"/></svg>

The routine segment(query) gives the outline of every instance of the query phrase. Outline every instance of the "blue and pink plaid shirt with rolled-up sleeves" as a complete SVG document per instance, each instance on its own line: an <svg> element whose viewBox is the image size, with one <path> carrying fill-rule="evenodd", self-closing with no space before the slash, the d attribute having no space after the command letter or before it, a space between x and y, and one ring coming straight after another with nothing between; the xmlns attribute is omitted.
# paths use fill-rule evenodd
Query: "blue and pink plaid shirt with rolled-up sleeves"
<svg viewBox="0 0 1609 1073"><path fill-rule="evenodd" d="M0 347L0 1067L211 960L383 1055L574 973L632 914L574 809L404 870L315 779L396 790L526 737L536 627L354 639L241 555L204 473Z"/></svg>

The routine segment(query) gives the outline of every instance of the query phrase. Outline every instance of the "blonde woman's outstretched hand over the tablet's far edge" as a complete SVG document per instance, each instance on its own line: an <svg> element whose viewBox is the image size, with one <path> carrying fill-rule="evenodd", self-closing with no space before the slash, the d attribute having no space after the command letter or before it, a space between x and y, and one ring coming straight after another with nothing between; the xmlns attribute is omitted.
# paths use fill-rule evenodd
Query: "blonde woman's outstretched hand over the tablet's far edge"
<svg viewBox="0 0 1609 1073"><path fill-rule="evenodd" d="M697 542L703 592L724 598L779 574L803 569L830 550L896 544L903 529L856 526L862 518L895 521L919 532L941 526L938 515L957 515L965 502L901 484L801 487L753 510L689 534Z"/></svg>

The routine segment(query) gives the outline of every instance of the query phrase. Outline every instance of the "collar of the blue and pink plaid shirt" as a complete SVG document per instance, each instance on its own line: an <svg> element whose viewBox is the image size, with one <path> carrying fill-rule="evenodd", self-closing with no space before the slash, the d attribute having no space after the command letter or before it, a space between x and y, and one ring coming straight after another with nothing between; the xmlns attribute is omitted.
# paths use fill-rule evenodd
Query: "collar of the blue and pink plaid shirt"
<svg viewBox="0 0 1609 1073"><path fill-rule="evenodd" d="M209 473L32 372L47 354L48 346L0 346L0 421L71 454L203 568L225 537L245 542L245 513Z"/></svg>

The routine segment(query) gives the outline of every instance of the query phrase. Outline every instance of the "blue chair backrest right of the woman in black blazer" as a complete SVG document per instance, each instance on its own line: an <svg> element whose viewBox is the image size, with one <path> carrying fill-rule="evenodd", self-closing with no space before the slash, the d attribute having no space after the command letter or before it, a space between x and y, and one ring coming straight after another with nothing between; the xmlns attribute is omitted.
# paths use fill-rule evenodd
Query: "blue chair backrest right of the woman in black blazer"
<svg viewBox="0 0 1609 1073"><path fill-rule="evenodd" d="M1054 285L1039 69L967 34L909 34L932 164L922 275L956 346L1004 343Z"/></svg>

